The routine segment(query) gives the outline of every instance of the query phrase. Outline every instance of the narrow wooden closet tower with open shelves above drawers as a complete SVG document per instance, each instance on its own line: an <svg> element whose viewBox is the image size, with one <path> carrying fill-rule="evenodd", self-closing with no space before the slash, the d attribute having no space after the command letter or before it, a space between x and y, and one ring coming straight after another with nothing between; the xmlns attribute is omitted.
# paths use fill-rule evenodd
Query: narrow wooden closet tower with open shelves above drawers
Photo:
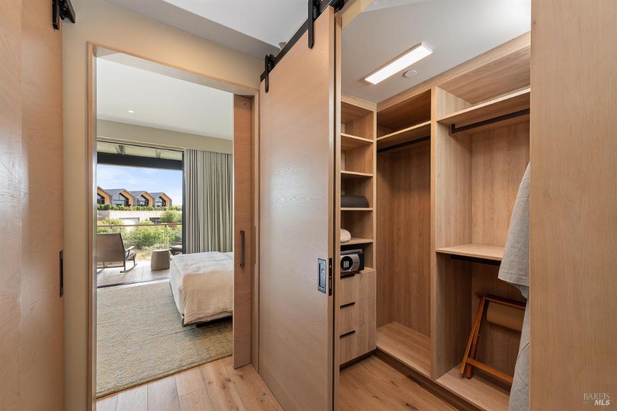
<svg viewBox="0 0 617 411"><path fill-rule="evenodd" d="M335 271L340 275L336 310L339 364L375 349L375 111L374 103L341 96L341 139L337 153L339 188L341 195L366 197L368 207L339 206L338 210L340 227L352 235L349 242L340 243L340 250L361 249L365 258L365 269L357 274Z"/></svg>

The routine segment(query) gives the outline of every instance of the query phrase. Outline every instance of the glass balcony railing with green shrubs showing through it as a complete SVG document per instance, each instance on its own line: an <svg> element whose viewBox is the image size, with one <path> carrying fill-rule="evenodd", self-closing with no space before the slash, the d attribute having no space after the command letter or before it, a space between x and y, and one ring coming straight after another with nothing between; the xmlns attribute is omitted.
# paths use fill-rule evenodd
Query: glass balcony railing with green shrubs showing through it
<svg viewBox="0 0 617 411"><path fill-rule="evenodd" d="M149 260L152 250L167 249L182 244L182 224L118 224L97 225L96 233L119 232L125 247L135 246L138 260Z"/></svg>

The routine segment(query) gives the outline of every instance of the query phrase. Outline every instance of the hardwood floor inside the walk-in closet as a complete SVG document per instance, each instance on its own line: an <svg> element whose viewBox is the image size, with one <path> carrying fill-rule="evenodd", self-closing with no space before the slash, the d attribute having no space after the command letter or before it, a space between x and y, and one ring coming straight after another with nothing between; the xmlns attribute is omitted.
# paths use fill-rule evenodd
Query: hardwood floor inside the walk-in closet
<svg viewBox="0 0 617 411"><path fill-rule="evenodd" d="M376 356L341 370L339 411L453 411L410 376Z"/></svg>

